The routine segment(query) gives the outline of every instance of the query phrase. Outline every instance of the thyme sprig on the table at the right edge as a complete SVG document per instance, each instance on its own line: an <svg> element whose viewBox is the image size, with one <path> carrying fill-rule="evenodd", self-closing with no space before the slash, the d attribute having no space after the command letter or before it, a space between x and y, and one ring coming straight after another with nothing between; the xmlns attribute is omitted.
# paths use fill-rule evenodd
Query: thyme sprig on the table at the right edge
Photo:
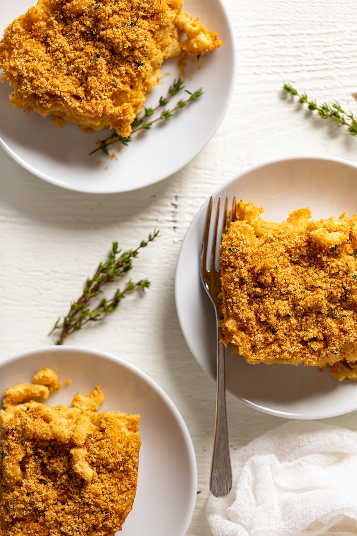
<svg viewBox="0 0 357 536"><path fill-rule="evenodd" d="M310 111L317 111L322 119L331 119L335 121L339 126L347 126L347 132L351 136L357 136L357 118L354 117L352 111L347 113L341 108L338 102L334 102L332 106L329 106L324 102L322 105L317 105L316 100L310 101L306 93L298 93L291 84L284 84L284 92L290 95L297 96L300 104L307 104L307 109Z"/></svg>

